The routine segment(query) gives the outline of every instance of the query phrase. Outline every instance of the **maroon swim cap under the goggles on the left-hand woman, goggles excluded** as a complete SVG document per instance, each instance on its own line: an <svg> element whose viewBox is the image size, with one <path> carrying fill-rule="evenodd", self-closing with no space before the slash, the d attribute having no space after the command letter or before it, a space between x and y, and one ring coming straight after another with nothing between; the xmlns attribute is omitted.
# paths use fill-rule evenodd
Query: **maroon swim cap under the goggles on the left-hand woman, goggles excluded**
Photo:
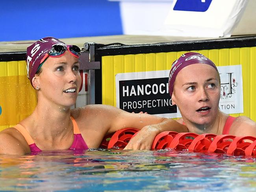
<svg viewBox="0 0 256 192"><path fill-rule="evenodd" d="M45 59L48 57L48 51L52 48L53 45L56 44L67 46L67 44L59 41L59 39L56 39L54 37L45 37L36 41L27 48L27 76L30 79L30 83L32 86L32 79L35 76L39 65L43 63L43 61L45 61Z"/></svg>

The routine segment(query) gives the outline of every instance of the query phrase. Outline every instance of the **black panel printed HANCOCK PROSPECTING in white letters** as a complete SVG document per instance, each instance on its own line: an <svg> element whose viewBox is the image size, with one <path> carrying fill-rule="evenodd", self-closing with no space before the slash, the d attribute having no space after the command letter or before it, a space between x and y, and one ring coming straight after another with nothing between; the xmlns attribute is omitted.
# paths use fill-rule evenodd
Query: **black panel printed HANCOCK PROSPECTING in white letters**
<svg viewBox="0 0 256 192"><path fill-rule="evenodd" d="M168 78L119 81L120 109L149 114L177 113L169 95Z"/></svg>

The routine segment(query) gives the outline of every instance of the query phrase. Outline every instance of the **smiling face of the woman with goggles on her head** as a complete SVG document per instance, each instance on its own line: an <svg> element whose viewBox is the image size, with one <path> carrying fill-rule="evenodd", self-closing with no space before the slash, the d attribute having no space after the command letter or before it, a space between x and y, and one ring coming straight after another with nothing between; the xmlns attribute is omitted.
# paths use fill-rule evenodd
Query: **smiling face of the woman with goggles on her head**
<svg viewBox="0 0 256 192"><path fill-rule="evenodd" d="M81 85L78 59L66 51L61 57L48 57L41 69L35 80L38 96L63 107L74 105Z"/></svg>

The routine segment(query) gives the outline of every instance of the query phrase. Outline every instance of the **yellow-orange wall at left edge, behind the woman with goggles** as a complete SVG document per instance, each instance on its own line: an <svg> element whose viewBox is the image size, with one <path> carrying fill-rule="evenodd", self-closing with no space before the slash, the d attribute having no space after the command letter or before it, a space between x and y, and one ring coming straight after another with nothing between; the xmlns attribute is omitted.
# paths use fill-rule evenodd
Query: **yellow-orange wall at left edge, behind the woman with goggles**
<svg viewBox="0 0 256 192"><path fill-rule="evenodd" d="M36 93L26 75L25 61L0 62L0 131L32 113Z"/></svg>

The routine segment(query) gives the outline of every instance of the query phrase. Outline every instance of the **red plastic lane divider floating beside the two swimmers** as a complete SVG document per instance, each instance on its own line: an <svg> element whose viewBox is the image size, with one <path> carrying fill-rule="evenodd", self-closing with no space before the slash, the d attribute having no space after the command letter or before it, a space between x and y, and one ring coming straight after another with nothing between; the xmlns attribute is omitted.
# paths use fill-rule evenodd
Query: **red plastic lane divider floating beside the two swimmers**
<svg viewBox="0 0 256 192"><path fill-rule="evenodd" d="M114 134L103 138L100 148L125 148L132 137L139 130L126 128L116 131ZM204 133L177 133L175 131L164 131L158 134L152 143L152 149L188 150L190 152L222 153L227 155L256 156L256 137L214 135Z"/></svg>

